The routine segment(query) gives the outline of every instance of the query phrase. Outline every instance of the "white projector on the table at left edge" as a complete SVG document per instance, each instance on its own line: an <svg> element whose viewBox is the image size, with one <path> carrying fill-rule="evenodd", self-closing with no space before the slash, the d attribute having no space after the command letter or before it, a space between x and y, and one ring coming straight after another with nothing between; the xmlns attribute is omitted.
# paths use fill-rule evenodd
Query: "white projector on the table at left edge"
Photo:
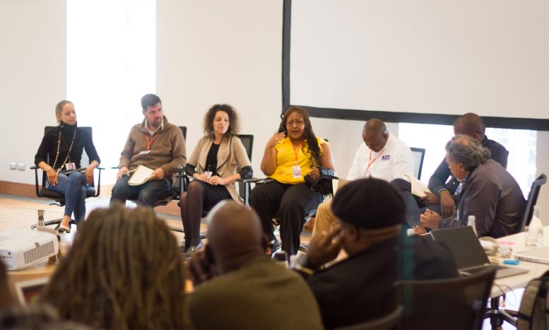
<svg viewBox="0 0 549 330"><path fill-rule="evenodd" d="M8 271L39 264L57 252L59 242L52 233L24 229L0 231L0 260Z"/></svg>

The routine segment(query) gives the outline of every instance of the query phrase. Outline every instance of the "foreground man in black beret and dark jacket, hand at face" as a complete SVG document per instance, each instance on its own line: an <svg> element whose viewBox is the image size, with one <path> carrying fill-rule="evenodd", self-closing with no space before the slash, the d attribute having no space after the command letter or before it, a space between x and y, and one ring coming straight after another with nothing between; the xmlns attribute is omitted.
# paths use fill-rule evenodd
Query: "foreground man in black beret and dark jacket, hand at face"
<svg viewBox="0 0 549 330"><path fill-rule="evenodd" d="M431 237L403 234L405 207L388 182L350 182L334 197L332 211L339 225L313 236L307 255L300 257L296 266L317 297L326 329L391 312L398 279L457 276L454 258L446 247ZM319 269L342 248L347 259Z"/></svg>

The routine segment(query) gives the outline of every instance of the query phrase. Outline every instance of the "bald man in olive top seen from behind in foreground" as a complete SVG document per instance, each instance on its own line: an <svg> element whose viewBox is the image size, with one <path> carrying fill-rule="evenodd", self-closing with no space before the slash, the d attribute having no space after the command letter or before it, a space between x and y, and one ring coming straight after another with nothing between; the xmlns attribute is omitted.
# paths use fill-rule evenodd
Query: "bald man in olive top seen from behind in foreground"
<svg viewBox="0 0 549 330"><path fill-rule="evenodd" d="M323 329L307 283L268 259L266 243L250 208L222 201L208 214L208 244L189 266L196 329Z"/></svg>

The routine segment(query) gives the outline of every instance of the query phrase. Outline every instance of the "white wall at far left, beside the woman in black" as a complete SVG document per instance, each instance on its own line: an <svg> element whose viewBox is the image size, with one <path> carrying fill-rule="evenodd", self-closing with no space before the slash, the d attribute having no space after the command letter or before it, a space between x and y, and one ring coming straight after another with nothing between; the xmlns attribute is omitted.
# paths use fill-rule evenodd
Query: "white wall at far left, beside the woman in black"
<svg viewBox="0 0 549 330"><path fill-rule="evenodd" d="M64 0L0 1L0 180L34 182L44 126L55 125L54 107L66 95ZM9 170L9 162L26 170Z"/></svg>

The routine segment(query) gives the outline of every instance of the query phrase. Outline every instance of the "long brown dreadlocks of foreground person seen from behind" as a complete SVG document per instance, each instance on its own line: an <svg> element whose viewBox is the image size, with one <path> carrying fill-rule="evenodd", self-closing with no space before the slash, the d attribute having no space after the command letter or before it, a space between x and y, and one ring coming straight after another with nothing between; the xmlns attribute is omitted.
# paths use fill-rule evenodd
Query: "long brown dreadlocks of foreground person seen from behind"
<svg viewBox="0 0 549 330"><path fill-rule="evenodd" d="M184 329L184 269L175 236L152 208L90 213L41 300L102 329Z"/></svg>

